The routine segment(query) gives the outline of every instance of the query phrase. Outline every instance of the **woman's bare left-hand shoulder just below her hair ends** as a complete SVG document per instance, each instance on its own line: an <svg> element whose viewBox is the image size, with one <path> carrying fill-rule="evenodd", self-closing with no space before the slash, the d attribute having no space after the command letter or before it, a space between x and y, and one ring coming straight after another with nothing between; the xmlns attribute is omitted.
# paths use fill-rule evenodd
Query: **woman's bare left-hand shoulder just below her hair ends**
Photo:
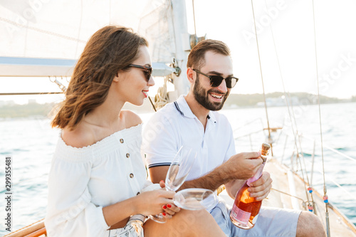
<svg viewBox="0 0 356 237"><path fill-rule="evenodd" d="M77 148L88 147L96 142L93 129L83 124L78 125L74 130L64 128L61 137L68 146Z"/></svg>

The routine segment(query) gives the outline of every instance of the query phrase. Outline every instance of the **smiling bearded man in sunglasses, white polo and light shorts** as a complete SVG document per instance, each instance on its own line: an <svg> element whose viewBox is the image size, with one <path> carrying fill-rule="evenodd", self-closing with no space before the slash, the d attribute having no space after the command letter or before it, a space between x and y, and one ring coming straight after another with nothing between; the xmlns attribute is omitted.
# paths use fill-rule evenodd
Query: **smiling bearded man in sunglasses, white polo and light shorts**
<svg viewBox="0 0 356 237"><path fill-rule="evenodd" d="M215 191L225 184L232 198L246 179L262 164L260 152L236 154L231 125L221 110L237 82L229 48L221 41L206 40L195 46L188 57L188 95L181 96L152 116L143 132L142 152L147 157L154 183L164 180L172 157L179 147L197 147L194 167L182 189ZM263 172L249 188L251 196L266 198L271 177ZM325 236L319 219L308 211L262 208L256 225L243 230L231 223L230 209L219 201L210 211L226 236Z"/></svg>

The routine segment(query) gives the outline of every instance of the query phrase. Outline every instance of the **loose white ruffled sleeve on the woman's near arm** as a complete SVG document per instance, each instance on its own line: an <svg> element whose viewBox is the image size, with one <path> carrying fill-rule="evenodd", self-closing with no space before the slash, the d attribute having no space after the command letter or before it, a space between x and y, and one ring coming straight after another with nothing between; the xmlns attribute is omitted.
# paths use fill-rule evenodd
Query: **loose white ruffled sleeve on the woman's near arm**
<svg viewBox="0 0 356 237"><path fill-rule="evenodd" d="M82 151L78 149L73 159L61 156L61 146L56 149L48 179L45 225L49 237L105 236L110 228L103 207L91 202L88 181L93 162L90 150Z"/></svg>

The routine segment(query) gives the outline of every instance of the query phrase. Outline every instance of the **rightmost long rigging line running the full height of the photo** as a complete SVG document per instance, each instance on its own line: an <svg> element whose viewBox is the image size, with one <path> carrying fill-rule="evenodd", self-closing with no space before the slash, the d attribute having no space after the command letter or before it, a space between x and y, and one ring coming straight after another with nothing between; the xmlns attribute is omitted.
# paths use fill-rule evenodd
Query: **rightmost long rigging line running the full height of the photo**
<svg viewBox="0 0 356 237"><path fill-rule="evenodd" d="M321 142L321 159L323 162L323 179L324 179L324 197L326 195L326 183L325 183L325 169L324 169L324 149L323 149L323 129L321 125L321 109L320 109L320 91L319 91L319 72L318 72L318 53L316 50L316 30L315 30L315 9L314 0L313 3L313 26L314 26L314 48L315 48L315 69L316 69L316 81L318 85L318 107L319 107L319 126L320 126L320 142ZM328 200L325 202L325 218L326 218L326 232L330 236L330 223L329 223L329 213L328 213Z"/></svg>

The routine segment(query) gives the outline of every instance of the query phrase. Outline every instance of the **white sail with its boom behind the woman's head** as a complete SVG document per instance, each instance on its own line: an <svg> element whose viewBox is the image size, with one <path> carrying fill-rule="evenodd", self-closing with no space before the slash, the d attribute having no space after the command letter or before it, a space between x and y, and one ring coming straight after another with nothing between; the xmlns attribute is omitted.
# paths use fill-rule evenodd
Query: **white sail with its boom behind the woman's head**
<svg viewBox="0 0 356 237"><path fill-rule="evenodd" d="M172 63L177 58L172 16L171 1L1 1L0 74L70 76L88 38L108 24L145 36L152 62Z"/></svg>

